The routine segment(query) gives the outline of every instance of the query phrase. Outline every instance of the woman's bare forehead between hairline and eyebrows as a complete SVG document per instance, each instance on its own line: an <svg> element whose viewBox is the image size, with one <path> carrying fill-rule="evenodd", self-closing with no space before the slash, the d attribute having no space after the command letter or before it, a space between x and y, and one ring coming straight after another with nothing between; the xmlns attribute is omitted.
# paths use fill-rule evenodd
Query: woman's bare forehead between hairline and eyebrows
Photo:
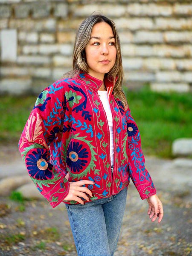
<svg viewBox="0 0 192 256"><path fill-rule="evenodd" d="M106 37L114 37L113 30L111 26L108 23L100 22L96 23L91 31L91 37L92 36L106 36Z"/></svg>

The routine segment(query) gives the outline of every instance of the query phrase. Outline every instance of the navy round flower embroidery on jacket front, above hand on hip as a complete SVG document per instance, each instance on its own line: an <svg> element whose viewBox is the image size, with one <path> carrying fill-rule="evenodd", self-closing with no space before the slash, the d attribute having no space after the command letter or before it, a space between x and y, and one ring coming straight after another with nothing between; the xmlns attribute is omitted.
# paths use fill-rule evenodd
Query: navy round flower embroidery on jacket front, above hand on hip
<svg viewBox="0 0 192 256"><path fill-rule="evenodd" d="M88 151L82 146L79 142L70 142L67 148L66 164L73 172L80 172L87 163Z"/></svg>

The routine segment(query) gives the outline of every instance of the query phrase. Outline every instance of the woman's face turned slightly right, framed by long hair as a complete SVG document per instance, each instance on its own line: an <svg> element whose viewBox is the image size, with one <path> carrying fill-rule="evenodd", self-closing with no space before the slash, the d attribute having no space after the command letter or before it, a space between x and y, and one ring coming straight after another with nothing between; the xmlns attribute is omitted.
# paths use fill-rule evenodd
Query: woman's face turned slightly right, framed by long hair
<svg viewBox="0 0 192 256"><path fill-rule="evenodd" d="M85 47L88 74L103 80L116 60L116 47L113 30L108 23L96 23L90 40Z"/></svg>

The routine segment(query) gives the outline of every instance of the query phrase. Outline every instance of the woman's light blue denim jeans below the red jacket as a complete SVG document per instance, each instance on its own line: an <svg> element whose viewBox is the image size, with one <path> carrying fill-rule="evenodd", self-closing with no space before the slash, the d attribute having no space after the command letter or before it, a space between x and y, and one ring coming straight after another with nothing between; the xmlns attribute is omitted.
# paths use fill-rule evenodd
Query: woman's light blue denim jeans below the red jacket
<svg viewBox="0 0 192 256"><path fill-rule="evenodd" d="M65 204L78 256L113 256L125 211L127 187L109 198Z"/></svg>

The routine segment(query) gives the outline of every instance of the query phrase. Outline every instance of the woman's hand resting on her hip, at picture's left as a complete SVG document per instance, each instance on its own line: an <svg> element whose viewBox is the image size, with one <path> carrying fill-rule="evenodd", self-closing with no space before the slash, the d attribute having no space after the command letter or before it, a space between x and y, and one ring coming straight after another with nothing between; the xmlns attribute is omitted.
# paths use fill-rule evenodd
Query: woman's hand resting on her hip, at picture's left
<svg viewBox="0 0 192 256"><path fill-rule="evenodd" d="M70 182L70 188L68 195L64 198L64 200L74 200L79 202L80 204L84 204L84 201L81 198L84 198L86 201L89 201L87 193L92 197L92 192L90 189L83 187L83 185L94 185L95 183L91 180L80 180L75 182Z"/></svg>

